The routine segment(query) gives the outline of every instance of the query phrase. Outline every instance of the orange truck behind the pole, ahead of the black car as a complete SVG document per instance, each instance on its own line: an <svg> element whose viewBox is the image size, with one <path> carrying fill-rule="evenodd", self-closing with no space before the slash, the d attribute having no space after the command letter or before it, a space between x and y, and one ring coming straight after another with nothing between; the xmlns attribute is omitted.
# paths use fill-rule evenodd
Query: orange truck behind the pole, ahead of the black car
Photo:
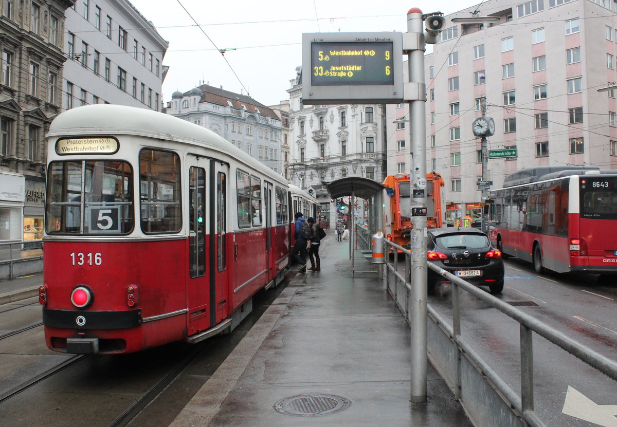
<svg viewBox="0 0 617 427"><path fill-rule="evenodd" d="M384 234L389 241L409 248L412 224L412 193L407 173L386 176L384 195ZM444 179L438 173L426 174L426 222L428 228L444 224Z"/></svg>

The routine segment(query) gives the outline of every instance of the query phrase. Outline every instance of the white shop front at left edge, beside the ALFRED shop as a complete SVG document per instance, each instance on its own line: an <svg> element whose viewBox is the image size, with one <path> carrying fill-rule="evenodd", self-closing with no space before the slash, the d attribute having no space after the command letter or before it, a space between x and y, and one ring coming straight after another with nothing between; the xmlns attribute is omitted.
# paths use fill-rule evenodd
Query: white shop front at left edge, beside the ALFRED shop
<svg viewBox="0 0 617 427"><path fill-rule="evenodd" d="M25 187L25 177L20 173L0 172L0 243L23 239Z"/></svg>

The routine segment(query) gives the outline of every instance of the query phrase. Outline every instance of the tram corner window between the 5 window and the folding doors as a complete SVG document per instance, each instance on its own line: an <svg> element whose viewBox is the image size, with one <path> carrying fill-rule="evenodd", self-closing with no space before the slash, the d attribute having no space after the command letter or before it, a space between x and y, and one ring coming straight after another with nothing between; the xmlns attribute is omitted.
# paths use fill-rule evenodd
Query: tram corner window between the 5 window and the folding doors
<svg viewBox="0 0 617 427"><path fill-rule="evenodd" d="M144 233L177 233L182 227L180 157L168 151L139 152L139 199Z"/></svg>

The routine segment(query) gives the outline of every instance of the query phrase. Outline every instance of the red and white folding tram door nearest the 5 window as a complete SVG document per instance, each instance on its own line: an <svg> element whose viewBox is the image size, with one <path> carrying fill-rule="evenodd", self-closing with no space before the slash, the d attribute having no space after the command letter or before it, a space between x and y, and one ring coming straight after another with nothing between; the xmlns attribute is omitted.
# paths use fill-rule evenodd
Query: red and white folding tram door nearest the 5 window
<svg viewBox="0 0 617 427"><path fill-rule="evenodd" d="M228 165L193 158L189 165L189 334L226 317Z"/></svg>

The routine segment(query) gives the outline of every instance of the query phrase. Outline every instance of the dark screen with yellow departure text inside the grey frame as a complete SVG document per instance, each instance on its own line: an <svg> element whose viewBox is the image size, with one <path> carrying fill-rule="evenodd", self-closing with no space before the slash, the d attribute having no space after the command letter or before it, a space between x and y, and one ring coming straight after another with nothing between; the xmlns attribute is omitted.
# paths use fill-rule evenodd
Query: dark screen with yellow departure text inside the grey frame
<svg viewBox="0 0 617 427"><path fill-rule="evenodd" d="M311 43L311 83L393 85L391 41Z"/></svg>

